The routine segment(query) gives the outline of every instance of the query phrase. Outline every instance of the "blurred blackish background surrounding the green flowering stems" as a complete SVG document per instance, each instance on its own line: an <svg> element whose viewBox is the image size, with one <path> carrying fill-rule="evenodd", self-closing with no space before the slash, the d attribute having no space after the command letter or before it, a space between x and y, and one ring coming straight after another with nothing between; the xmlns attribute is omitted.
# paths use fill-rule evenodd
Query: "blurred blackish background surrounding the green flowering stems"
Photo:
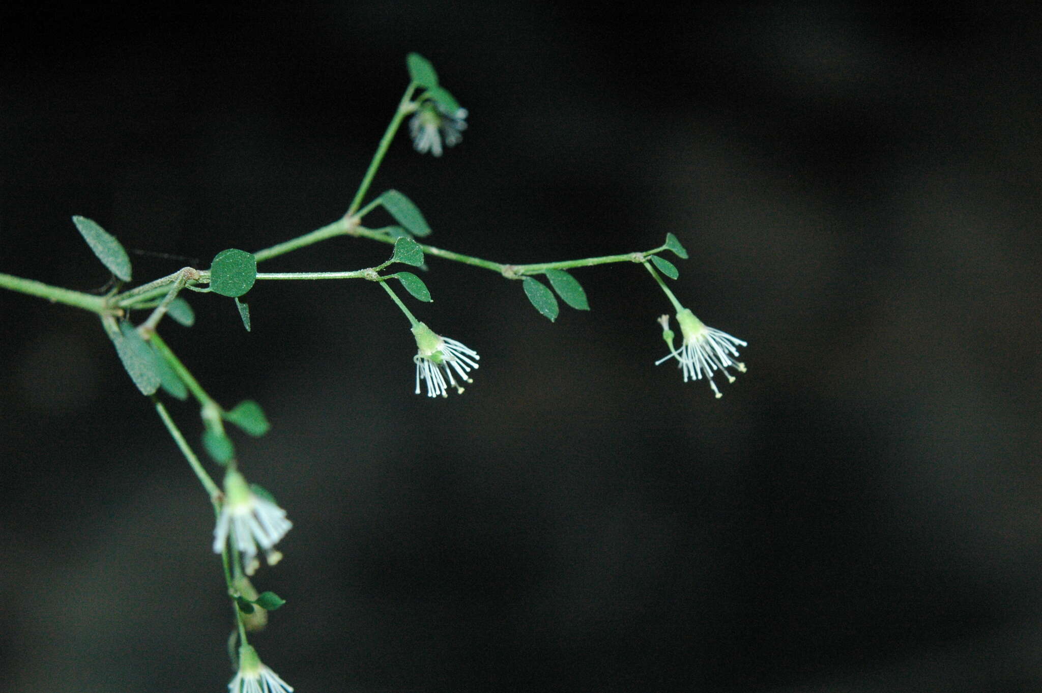
<svg viewBox="0 0 1042 693"><path fill-rule="evenodd" d="M399 135L374 192L500 262L673 232L749 371L716 400L654 367L669 304L629 265L574 271L593 311L551 324L431 259L410 305L481 354L447 400L373 284L259 283L251 333L191 295L164 335L264 404L242 464L295 522L265 662L301 693L1037 691L1038 25L872 4L7 6L0 271L100 290L73 214L193 258L139 280L332 221L419 51L470 127L440 159ZM96 318L3 292L0 320L0 688L223 690L205 494Z"/></svg>

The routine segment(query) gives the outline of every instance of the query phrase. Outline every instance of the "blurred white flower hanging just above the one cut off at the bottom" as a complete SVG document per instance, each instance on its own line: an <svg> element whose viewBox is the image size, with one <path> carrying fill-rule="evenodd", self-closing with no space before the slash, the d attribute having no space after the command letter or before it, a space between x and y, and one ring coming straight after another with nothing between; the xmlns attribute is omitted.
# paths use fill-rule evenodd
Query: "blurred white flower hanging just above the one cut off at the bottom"
<svg viewBox="0 0 1042 693"><path fill-rule="evenodd" d="M273 550L293 523L286 519L286 511L268 498L253 493L246 478L237 471L224 476L224 503L214 527L214 552L220 553L228 541L228 531L235 548L243 554L247 575L257 568L257 544L264 549L268 565L275 565L282 554Z"/></svg>

